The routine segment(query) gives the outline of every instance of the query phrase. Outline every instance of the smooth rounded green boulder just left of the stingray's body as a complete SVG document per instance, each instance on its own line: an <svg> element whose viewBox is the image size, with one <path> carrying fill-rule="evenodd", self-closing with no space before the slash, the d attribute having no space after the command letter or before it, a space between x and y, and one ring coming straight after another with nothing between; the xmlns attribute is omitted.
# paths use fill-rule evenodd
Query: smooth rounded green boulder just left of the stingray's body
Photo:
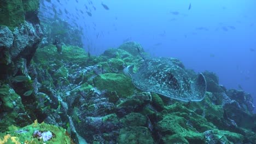
<svg viewBox="0 0 256 144"><path fill-rule="evenodd" d="M133 94L134 86L131 79L123 74L106 73L95 77L95 87L107 91L115 91L120 96L127 96Z"/></svg>

